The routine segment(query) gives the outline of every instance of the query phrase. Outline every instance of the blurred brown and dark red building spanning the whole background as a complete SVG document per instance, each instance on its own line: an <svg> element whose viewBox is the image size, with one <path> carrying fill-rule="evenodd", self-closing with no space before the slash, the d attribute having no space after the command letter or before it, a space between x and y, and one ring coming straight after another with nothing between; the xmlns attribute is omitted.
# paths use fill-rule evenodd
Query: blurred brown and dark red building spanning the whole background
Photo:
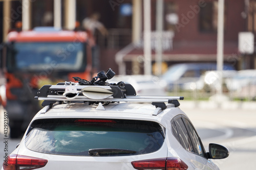
<svg viewBox="0 0 256 170"><path fill-rule="evenodd" d="M156 1L151 0L153 32L156 30L157 21ZM29 11L29 29L54 26L56 2L60 3L57 8L61 14L58 22L64 29L72 29L72 16L82 22L92 13L100 13L100 21L109 31L107 37L96 33L100 48L100 69L112 67L118 72L115 59L119 52L126 66L126 74L143 72L142 0L0 0L0 23L3 23L0 27L0 41L4 41L8 31L15 28L16 21L22 20L24 9ZM236 0L235 3L233 0L225 0L224 61L238 69L256 67L255 54L244 55L238 51L239 32L250 31L254 34L256 31L255 6L254 0ZM217 7L218 1L213 0L164 0L165 38L162 57L167 65L179 62L216 62ZM156 42L153 33L153 64L154 45Z"/></svg>

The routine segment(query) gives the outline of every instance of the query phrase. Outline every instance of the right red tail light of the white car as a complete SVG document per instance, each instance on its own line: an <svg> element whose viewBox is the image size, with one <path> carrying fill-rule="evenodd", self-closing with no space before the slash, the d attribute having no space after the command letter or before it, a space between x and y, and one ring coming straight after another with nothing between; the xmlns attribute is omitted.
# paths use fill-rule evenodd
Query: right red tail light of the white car
<svg viewBox="0 0 256 170"><path fill-rule="evenodd" d="M139 170L185 170L188 168L181 159L175 157L133 161L132 165Z"/></svg>

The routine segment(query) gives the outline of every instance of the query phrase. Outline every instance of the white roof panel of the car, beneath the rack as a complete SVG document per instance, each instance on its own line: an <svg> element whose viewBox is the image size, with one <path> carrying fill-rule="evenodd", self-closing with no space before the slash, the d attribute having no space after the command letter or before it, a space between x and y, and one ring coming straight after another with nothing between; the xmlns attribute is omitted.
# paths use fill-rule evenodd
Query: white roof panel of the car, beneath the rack
<svg viewBox="0 0 256 170"><path fill-rule="evenodd" d="M174 104L167 104L166 106L166 109L160 110L151 104L121 102L103 106L105 110L96 110L98 105L83 103L61 104L53 106L45 112L46 106L37 113L33 120L46 118L116 118L152 120L154 122L163 123L165 122L163 118L165 116L174 117L177 114L184 114L184 112L178 107L175 107Z"/></svg>

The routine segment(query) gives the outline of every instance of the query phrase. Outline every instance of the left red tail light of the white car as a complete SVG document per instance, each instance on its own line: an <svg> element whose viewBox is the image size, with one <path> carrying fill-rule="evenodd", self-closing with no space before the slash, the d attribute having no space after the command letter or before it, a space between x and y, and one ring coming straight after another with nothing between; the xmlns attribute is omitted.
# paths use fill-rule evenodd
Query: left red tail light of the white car
<svg viewBox="0 0 256 170"><path fill-rule="evenodd" d="M44 167L47 162L46 159L11 154L8 156L8 160L4 161L3 168L4 170L30 170Z"/></svg>

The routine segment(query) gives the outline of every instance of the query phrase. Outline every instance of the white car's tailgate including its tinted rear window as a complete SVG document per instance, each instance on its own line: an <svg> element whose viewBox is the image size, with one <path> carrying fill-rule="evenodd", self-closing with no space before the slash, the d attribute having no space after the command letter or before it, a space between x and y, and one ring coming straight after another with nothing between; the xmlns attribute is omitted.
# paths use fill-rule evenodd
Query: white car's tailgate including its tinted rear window
<svg viewBox="0 0 256 170"><path fill-rule="evenodd" d="M133 161L167 157L164 129L156 122L59 118L31 127L18 154L47 160L41 169L134 169Z"/></svg>

